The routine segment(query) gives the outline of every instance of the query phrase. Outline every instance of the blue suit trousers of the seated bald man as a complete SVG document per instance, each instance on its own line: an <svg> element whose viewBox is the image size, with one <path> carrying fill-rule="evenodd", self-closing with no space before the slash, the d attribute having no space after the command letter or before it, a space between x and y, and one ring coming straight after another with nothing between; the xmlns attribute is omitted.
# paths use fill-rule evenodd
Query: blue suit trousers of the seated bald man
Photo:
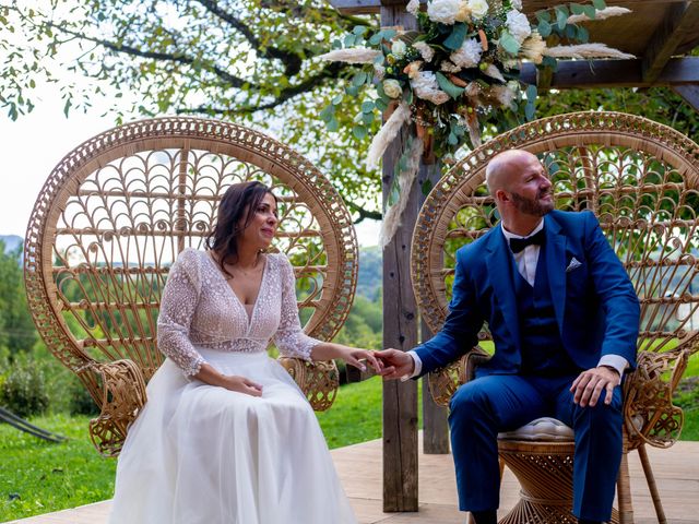
<svg viewBox="0 0 699 524"><path fill-rule="evenodd" d="M621 391L609 405L580 407L569 389L576 376L543 378L490 374L462 385L452 396L449 426L461 511L495 510L500 473L497 434L538 417L554 417L574 431L573 514L608 521L621 462Z"/></svg>

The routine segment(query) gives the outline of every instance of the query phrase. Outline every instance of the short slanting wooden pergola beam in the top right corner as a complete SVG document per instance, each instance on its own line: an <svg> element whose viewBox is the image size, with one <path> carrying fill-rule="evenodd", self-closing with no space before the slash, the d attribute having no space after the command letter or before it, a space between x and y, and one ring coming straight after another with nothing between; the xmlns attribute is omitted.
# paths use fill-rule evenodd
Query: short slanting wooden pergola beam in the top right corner
<svg viewBox="0 0 699 524"><path fill-rule="evenodd" d="M696 34L699 26L699 1L675 3L655 34L651 37L643 57L642 79L653 83L686 37Z"/></svg>

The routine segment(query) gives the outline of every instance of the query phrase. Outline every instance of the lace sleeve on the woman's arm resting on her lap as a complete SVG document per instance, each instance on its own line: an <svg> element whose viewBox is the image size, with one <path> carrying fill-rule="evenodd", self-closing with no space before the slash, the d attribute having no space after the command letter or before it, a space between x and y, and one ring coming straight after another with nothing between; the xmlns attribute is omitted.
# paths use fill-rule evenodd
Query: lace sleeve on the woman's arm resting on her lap
<svg viewBox="0 0 699 524"><path fill-rule="evenodd" d="M189 340L189 326L197 309L201 281L198 253L182 251L170 267L157 318L157 347L186 376L197 374L205 360Z"/></svg>

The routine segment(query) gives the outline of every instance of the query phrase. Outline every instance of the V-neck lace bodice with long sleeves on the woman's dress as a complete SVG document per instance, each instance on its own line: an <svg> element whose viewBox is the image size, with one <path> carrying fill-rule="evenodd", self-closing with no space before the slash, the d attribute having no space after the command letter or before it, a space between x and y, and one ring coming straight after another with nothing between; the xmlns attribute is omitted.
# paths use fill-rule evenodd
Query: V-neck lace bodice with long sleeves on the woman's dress
<svg viewBox="0 0 699 524"><path fill-rule="evenodd" d="M273 338L282 355L310 358L320 341L301 331L294 269L284 254L268 254L250 317L211 257L182 251L170 267L157 319L158 349L187 376L204 358L196 346L221 352L264 352Z"/></svg>

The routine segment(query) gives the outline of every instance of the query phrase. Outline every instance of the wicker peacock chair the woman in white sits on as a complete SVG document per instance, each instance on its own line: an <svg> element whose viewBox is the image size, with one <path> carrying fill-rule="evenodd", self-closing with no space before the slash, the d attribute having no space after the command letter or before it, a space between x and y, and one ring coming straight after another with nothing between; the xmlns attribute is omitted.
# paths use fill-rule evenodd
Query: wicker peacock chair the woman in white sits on
<svg viewBox="0 0 699 524"><path fill-rule="evenodd" d="M104 455L121 450L163 360L155 326L170 264L185 248L203 249L220 196L252 179L279 196L273 249L295 266L305 331L330 341L356 286L352 218L317 168L269 136L193 118L133 122L71 152L39 193L25 240L29 309L100 407L90 434ZM334 362L282 364L315 409L332 404Z"/></svg>

